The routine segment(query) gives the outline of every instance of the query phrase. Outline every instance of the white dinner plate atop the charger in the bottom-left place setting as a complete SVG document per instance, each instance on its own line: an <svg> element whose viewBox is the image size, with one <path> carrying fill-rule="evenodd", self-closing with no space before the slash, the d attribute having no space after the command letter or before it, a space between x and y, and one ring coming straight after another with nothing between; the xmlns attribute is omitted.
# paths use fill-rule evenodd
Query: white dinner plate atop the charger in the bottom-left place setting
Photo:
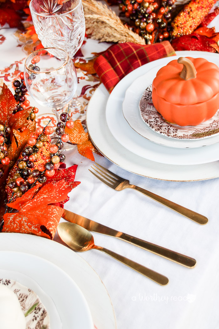
<svg viewBox="0 0 219 329"><path fill-rule="evenodd" d="M51 321L51 329L93 329L94 324L85 297L61 268L43 258L17 251L0 251L0 259L0 274L1 269L25 273L53 299L61 318L61 326L60 323L52 325ZM40 295L39 298L41 299ZM50 317L52 319L52 314Z"/></svg>

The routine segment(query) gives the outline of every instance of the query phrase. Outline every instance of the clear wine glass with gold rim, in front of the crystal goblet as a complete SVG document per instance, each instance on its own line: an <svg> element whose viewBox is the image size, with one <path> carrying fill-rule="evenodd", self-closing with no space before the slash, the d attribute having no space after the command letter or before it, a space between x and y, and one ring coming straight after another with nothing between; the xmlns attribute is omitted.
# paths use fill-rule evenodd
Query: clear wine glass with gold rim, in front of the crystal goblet
<svg viewBox="0 0 219 329"><path fill-rule="evenodd" d="M59 48L34 51L25 60L24 80L30 95L39 104L52 107L60 121L63 106L77 88L77 72L67 52Z"/></svg>

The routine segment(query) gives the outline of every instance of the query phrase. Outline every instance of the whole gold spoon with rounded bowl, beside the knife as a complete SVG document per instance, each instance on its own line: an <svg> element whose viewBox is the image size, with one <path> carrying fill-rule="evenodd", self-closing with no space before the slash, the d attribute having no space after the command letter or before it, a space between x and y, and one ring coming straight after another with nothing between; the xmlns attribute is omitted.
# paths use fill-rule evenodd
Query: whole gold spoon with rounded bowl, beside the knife
<svg viewBox="0 0 219 329"><path fill-rule="evenodd" d="M104 252L105 254L117 259L122 264L143 274L147 278L159 283L161 286L165 286L169 282L169 279L166 276L157 273L152 269L149 269L134 261L131 261L126 257L116 254L111 250L95 245L93 235L80 225L74 223L60 223L57 226L57 232L61 240L64 241L71 249L75 251L98 249Z"/></svg>

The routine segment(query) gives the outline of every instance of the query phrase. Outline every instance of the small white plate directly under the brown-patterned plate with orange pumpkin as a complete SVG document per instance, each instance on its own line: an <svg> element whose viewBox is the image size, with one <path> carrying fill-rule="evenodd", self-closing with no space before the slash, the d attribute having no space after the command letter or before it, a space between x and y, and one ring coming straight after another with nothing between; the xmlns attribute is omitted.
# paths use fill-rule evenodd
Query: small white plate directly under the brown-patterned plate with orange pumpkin
<svg viewBox="0 0 219 329"><path fill-rule="evenodd" d="M168 131L167 130L168 127L165 127L165 130L163 129L163 131L161 132L160 130L156 129L157 126L154 128L154 130L152 130L150 125L149 124L147 125L147 123L144 122L144 119L142 117L143 114L141 114L139 103L142 102L142 97L143 97L142 95L144 94L145 89L152 84L158 70L162 66L163 65L154 67L144 75L135 79L135 81L126 90L124 101L122 103L122 113L128 124L130 125L130 127L138 134L140 134L142 137L149 139L154 143L158 143L165 146L189 148L189 147L201 147L201 146L212 145L217 143L219 141L219 133L216 136L215 135L206 136L205 138L202 139L177 139L177 138L171 138L171 136L169 137L165 136L166 132ZM143 101L143 103L145 102ZM156 110L155 112L157 115L156 115L156 119L153 120L154 122L157 122L158 120L160 120L160 114L158 114ZM162 123L163 121L166 124L166 126L169 125L173 127L172 125L166 123L164 119L162 120ZM205 126L206 125L207 124L205 123ZM196 126L195 127L196 130L199 129L200 126ZM159 127L163 128L163 125ZM179 126L176 127L181 131L181 127ZM185 127L182 128L185 130ZM199 130L201 129L202 126L200 127Z"/></svg>

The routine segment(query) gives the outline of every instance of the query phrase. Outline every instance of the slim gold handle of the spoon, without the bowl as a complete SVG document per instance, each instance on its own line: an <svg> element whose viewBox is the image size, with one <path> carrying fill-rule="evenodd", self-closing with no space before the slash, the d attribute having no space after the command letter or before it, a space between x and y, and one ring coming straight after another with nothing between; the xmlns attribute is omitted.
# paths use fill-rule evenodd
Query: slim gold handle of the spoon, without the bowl
<svg viewBox="0 0 219 329"><path fill-rule="evenodd" d="M166 276L164 276L160 273L157 273L157 272L153 271L152 269L147 268L147 267L145 267L141 264L138 264L138 263L136 263L136 262L124 257L124 256L121 256L121 255L115 253L114 251L111 251L109 249L99 247L99 246L96 246L96 245L93 246L93 248L98 249L98 250L104 252L105 254L115 258L120 263L134 269L135 271L141 273L142 275L144 275L147 278L153 280L154 282L159 283L159 285L161 285L161 286L165 286L169 282L169 279Z"/></svg>

